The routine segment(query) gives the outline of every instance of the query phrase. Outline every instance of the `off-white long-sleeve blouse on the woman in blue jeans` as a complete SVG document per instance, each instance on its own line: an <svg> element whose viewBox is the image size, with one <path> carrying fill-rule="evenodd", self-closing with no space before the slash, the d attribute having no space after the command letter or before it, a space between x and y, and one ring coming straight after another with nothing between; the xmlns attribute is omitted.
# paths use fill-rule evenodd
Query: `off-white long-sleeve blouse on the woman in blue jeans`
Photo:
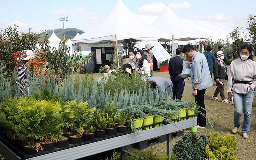
<svg viewBox="0 0 256 160"><path fill-rule="evenodd" d="M256 62L250 59L243 61L242 59L238 58L237 60L231 62L229 68L227 92L232 92L231 90L233 90L237 93L245 94L249 92L250 87L252 89L256 87ZM235 80L252 81L252 84L234 84Z"/></svg>

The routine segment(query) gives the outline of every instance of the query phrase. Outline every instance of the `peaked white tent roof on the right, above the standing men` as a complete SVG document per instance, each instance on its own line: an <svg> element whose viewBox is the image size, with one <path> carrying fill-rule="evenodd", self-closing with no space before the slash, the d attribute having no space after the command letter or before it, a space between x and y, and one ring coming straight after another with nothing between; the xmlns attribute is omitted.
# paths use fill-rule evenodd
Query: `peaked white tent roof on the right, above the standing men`
<svg viewBox="0 0 256 160"><path fill-rule="evenodd" d="M211 40L211 35L202 30L198 30L193 26L184 24L182 19L177 17L168 5L165 7L165 10L161 13L158 19L151 24L151 26L174 35L174 40ZM170 37L169 39L172 38Z"/></svg>

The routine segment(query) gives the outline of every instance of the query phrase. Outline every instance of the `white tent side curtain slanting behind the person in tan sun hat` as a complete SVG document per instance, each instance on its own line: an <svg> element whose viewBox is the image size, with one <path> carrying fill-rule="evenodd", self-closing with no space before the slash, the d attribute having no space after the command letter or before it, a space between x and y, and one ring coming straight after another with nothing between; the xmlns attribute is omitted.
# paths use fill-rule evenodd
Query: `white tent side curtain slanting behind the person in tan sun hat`
<svg viewBox="0 0 256 160"><path fill-rule="evenodd" d="M162 63L163 61L170 59L171 56L170 54L167 52L167 50L165 48L163 48L163 46L158 42L158 41L142 41L142 42L137 42L137 44L135 45L135 47L142 49L145 48L145 45L147 43L150 43L151 45L154 45L152 52L154 53L154 57L156 57L156 60L158 61L158 63Z"/></svg>

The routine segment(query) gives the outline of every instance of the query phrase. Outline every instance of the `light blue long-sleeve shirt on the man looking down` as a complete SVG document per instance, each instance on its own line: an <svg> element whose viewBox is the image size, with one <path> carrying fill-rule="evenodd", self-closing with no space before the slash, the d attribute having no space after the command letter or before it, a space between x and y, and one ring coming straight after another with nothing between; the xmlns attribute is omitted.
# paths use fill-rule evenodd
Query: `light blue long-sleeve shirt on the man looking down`
<svg viewBox="0 0 256 160"><path fill-rule="evenodd" d="M191 68L191 81L193 88L195 83L198 83L197 89L199 90L207 89L213 85L206 57L202 53L196 52L196 54L194 54L192 57Z"/></svg>

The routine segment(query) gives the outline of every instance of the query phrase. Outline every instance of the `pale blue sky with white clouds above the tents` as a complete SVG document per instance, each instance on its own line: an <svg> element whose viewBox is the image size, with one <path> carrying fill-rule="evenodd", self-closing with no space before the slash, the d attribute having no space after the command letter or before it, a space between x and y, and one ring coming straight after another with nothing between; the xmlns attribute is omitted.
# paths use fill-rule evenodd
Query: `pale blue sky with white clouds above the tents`
<svg viewBox="0 0 256 160"><path fill-rule="evenodd" d="M19 31L34 32L63 28L60 17L68 17L65 28L87 31L102 21L117 0L1 0L0 30L17 24ZM256 0L123 0L133 13L159 16L165 5L184 19L229 22L246 26L256 15Z"/></svg>

